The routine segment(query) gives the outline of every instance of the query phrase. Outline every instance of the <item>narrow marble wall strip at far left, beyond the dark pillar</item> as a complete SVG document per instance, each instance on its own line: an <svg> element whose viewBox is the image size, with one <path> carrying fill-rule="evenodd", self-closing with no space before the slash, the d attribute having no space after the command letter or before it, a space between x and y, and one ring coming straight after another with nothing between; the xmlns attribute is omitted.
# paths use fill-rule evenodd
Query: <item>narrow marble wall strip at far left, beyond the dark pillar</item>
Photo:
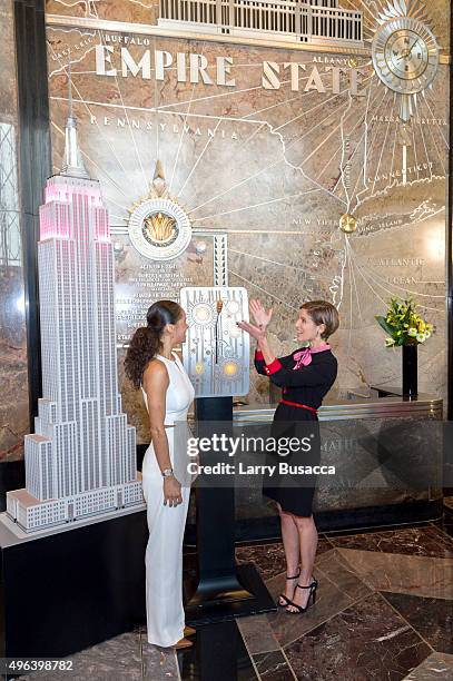
<svg viewBox="0 0 453 681"><path fill-rule="evenodd" d="M4 462L23 456L23 435L29 432L11 0L0 0L0 462Z"/></svg>

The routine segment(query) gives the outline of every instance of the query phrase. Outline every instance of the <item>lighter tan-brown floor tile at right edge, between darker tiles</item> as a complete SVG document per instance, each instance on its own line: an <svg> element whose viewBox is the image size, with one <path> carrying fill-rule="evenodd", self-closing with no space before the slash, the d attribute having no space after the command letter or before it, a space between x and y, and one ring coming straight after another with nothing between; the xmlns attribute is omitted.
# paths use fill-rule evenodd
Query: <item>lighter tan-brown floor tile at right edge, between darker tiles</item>
<svg viewBox="0 0 453 681"><path fill-rule="evenodd" d="M453 559L338 549L357 575L376 591L453 599Z"/></svg>

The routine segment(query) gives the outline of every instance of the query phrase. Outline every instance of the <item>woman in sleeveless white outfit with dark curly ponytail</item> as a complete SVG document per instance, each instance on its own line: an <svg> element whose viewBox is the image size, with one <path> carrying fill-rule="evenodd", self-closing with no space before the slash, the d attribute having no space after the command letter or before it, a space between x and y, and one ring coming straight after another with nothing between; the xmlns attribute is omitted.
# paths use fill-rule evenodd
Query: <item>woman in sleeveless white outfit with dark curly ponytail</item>
<svg viewBox="0 0 453 681"><path fill-rule="evenodd" d="M147 320L148 326L137 329L131 339L125 364L135 385L140 378L151 434L142 464L149 527L145 554L148 642L185 648L190 642L184 638L183 539L191 476L184 424L195 391L173 347L184 343L187 323L183 308L170 300L155 303Z"/></svg>

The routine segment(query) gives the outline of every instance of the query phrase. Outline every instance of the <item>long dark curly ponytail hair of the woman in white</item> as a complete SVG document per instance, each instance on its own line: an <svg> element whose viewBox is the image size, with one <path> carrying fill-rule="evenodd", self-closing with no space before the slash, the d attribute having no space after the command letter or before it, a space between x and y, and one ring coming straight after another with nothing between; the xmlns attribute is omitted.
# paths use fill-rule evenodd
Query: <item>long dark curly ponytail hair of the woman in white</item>
<svg viewBox="0 0 453 681"><path fill-rule="evenodd" d="M139 388L148 363L161 347L161 335L167 324L176 324L183 308L173 300L157 300L146 314L147 326L135 332L128 347L125 369L126 376Z"/></svg>

